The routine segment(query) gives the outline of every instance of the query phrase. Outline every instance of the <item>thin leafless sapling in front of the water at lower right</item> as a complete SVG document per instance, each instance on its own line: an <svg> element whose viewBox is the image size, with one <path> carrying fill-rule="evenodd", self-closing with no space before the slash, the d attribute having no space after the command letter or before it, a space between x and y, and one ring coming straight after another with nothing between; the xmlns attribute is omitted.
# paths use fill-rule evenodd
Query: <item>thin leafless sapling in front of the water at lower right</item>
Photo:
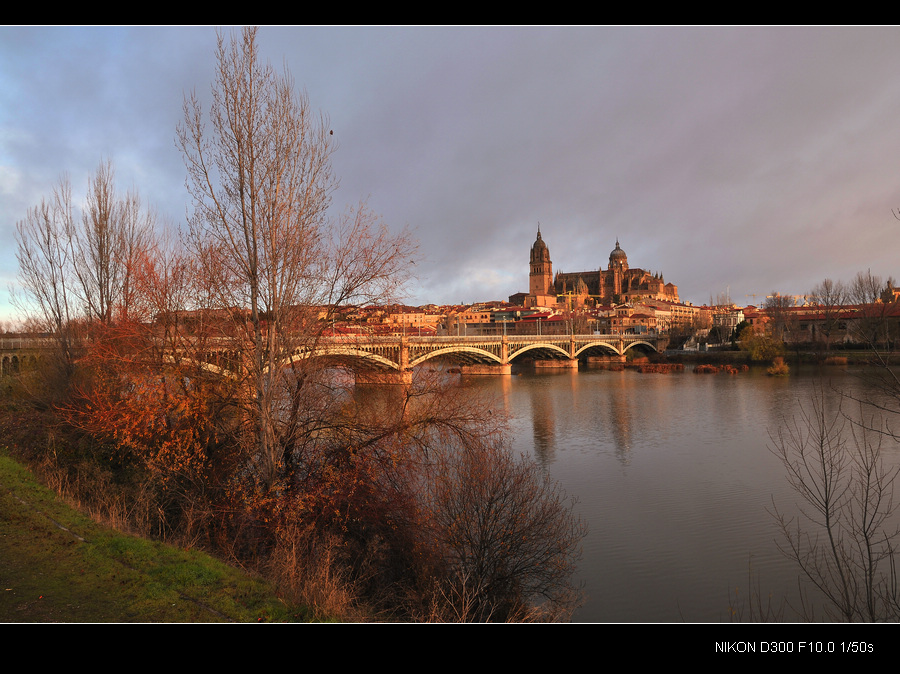
<svg viewBox="0 0 900 674"><path fill-rule="evenodd" d="M839 405L820 392L772 437L770 449L801 499L796 516L775 511L783 552L821 592L829 619L896 620L898 469L885 467L886 436L876 420L850 420Z"/></svg>

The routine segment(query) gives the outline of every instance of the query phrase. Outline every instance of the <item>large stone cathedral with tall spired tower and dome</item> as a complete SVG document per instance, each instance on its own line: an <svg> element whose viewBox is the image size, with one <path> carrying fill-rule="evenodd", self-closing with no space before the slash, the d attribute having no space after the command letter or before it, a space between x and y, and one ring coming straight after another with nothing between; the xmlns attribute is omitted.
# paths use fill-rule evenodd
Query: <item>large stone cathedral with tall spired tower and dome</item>
<svg viewBox="0 0 900 674"><path fill-rule="evenodd" d="M678 302L678 287L666 283L661 274L629 268L628 256L619 247L618 239L609 254L606 271L601 268L596 271L557 272L554 276L550 249L541 238L538 225L537 239L531 247L526 307L579 309L643 299Z"/></svg>

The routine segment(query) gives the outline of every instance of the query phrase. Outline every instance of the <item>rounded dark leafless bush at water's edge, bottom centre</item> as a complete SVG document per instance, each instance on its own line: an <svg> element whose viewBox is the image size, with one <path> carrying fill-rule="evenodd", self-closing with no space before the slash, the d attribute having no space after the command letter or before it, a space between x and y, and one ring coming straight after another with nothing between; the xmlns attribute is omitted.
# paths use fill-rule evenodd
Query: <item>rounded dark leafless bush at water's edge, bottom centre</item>
<svg viewBox="0 0 900 674"><path fill-rule="evenodd" d="M438 450L426 491L444 619L571 617L587 529L533 459L496 443Z"/></svg>

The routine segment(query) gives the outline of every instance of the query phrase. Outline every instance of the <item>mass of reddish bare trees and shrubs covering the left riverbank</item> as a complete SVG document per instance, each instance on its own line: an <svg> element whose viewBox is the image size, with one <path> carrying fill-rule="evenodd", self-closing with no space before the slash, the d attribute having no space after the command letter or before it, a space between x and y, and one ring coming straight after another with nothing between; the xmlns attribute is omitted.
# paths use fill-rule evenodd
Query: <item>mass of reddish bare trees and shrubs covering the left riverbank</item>
<svg viewBox="0 0 900 674"><path fill-rule="evenodd" d="M220 35L210 96L185 99L177 234L108 161L83 207L63 179L18 223L17 302L54 348L6 383L10 447L99 519L316 616L567 619L584 525L490 401L427 372L366 394L302 357L334 307L402 293L415 244L365 204L334 214L328 120L256 32Z"/></svg>

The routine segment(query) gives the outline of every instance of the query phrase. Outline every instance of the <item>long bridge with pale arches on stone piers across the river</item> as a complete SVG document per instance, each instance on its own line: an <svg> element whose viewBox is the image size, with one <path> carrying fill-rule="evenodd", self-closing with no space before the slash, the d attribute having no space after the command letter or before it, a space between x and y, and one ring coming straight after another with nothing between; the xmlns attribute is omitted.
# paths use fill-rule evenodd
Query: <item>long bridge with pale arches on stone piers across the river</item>
<svg viewBox="0 0 900 674"><path fill-rule="evenodd" d="M629 349L661 351L668 340L649 335L528 335L491 337L322 337L313 348L299 347L289 361L326 358L357 373L359 381L406 381L413 368L432 359L459 364L468 374L509 374L514 363L577 367L589 357L624 358ZM33 365L53 348L48 338L0 338L4 375ZM240 346L220 341L203 357L211 371L230 374L240 362Z"/></svg>

